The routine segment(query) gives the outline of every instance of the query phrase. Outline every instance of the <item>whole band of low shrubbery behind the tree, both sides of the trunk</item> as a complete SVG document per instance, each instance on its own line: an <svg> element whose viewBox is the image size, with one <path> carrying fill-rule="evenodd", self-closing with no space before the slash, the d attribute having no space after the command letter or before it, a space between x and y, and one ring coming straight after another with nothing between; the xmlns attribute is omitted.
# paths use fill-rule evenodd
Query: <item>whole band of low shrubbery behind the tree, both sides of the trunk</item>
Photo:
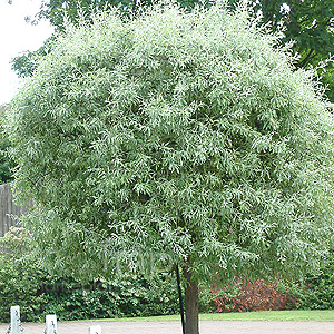
<svg viewBox="0 0 334 334"><path fill-rule="evenodd" d="M21 306L23 321L150 316L177 313L176 278L170 274L150 279L127 274L82 284L72 277L52 276L27 257L24 229L12 227L2 240L10 253L0 254L0 322L9 321L9 307ZM0 238L0 246L1 238ZM296 295L296 297L294 296ZM286 308L334 308L333 257L317 275L292 286L263 279L237 278L224 288L203 288L202 312L249 312Z"/></svg>

